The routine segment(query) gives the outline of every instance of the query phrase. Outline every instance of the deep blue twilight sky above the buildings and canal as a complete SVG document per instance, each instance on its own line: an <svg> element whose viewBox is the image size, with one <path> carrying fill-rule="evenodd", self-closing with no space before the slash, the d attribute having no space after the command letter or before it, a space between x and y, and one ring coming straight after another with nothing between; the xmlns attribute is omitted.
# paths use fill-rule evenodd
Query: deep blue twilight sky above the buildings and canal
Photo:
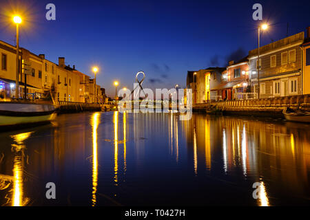
<svg viewBox="0 0 310 220"><path fill-rule="evenodd" d="M56 5L56 21L45 19L45 5ZM11 21L19 11L21 47L93 76L114 95L114 80L132 89L143 70L145 88L185 87L187 70L223 67L257 47L258 21L252 6L261 3L271 25L262 44L305 31L309 0L298 1L147 1L147 0L0 0L0 40L15 45Z"/></svg>

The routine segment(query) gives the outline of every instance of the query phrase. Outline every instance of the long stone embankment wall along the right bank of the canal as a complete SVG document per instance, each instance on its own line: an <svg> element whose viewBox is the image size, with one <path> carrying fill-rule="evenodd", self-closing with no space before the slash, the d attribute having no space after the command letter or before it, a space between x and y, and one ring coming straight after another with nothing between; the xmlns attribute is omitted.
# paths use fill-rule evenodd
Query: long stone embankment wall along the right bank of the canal
<svg viewBox="0 0 310 220"><path fill-rule="evenodd" d="M310 95L264 98L256 100L226 100L193 104L193 112L219 115L249 115L284 118L285 108L310 111Z"/></svg>

